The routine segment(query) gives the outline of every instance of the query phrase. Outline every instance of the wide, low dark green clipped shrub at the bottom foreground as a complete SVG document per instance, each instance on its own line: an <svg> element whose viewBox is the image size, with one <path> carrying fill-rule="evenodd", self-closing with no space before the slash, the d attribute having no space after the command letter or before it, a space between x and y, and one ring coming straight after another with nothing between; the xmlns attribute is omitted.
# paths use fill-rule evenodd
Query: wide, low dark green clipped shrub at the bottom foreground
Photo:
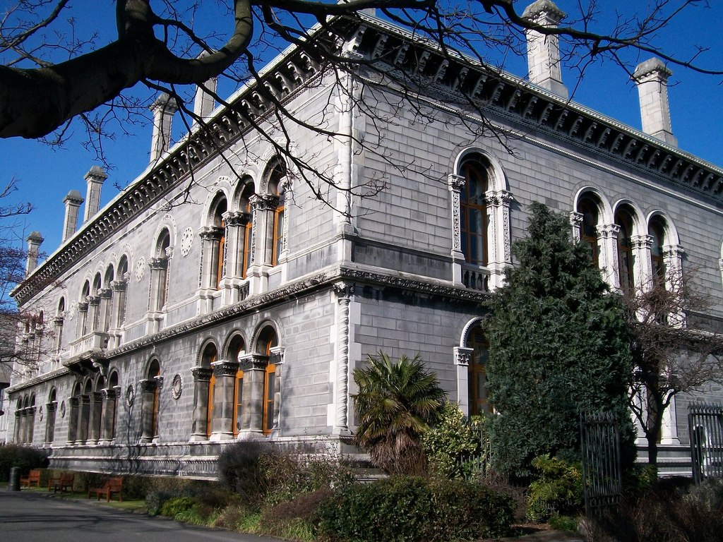
<svg viewBox="0 0 723 542"><path fill-rule="evenodd" d="M332 541L435 542L505 535L513 506L475 482L394 477L338 489L319 517Z"/></svg>

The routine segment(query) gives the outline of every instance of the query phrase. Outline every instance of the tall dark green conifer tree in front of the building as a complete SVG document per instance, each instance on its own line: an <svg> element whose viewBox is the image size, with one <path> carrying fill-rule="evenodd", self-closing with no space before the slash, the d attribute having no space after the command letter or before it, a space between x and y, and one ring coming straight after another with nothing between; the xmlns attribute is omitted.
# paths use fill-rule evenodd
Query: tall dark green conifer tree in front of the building
<svg viewBox="0 0 723 542"><path fill-rule="evenodd" d="M528 236L513 245L517 264L493 294L485 324L496 466L526 476L537 455L579 457L579 415L602 410L620 419L631 463L630 331L620 296L602 280L589 246L573 243L565 215L537 202L530 209Z"/></svg>

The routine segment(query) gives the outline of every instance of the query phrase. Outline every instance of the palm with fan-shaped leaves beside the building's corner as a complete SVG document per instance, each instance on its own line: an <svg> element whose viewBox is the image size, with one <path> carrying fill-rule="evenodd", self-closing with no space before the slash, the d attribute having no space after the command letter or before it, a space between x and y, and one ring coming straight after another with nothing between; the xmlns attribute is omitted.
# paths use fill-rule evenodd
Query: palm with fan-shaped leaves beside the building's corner
<svg viewBox="0 0 723 542"><path fill-rule="evenodd" d="M393 362L380 352L369 366L354 370L356 442L387 473L424 470L422 433L434 423L445 399L437 377L419 354Z"/></svg>

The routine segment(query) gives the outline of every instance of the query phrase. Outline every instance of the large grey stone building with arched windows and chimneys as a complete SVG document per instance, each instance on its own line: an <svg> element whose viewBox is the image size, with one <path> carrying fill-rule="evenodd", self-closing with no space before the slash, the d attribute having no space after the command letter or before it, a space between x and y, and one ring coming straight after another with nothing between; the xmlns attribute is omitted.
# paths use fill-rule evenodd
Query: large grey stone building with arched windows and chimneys
<svg viewBox="0 0 723 542"><path fill-rule="evenodd" d="M562 14L541 0L525 16ZM187 476L213 476L234 439L339 450L351 371L379 350L420 353L463 410L486 410L482 305L535 200L570 213L615 290L698 268L713 304L697 320L719 327L723 170L676 147L659 61L635 75L641 132L568 101L552 36L530 33L519 79L372 14L333 26L340 58L363 60L353 76L289 48L230 107L200 93L209 129L170 148L161 96L145 171L103 209L100 168L69 192L61 246L14 291L43 324L21 341L43 345L37 368L7 390L15 442L57 467ZM380 71L420 84L423 123ZM303 121L288 145L274 101ZM669 410L662 460L687 453L691 399Z"/></svg>

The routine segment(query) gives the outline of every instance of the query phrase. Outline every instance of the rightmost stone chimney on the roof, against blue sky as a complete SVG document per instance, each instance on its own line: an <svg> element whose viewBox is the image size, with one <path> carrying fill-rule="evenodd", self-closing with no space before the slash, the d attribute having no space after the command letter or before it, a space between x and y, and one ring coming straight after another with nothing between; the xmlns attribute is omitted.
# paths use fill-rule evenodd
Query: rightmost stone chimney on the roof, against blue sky
<svg viewBox="0 0 723 542"><path fill-rule="evenodd" d="M670 107L668 104L668 77L672 72L662 60L652 58L638 64L633 81L638 85L640 96L640 116L643 132L677 146L677 139L670 126Z"/></svg>

